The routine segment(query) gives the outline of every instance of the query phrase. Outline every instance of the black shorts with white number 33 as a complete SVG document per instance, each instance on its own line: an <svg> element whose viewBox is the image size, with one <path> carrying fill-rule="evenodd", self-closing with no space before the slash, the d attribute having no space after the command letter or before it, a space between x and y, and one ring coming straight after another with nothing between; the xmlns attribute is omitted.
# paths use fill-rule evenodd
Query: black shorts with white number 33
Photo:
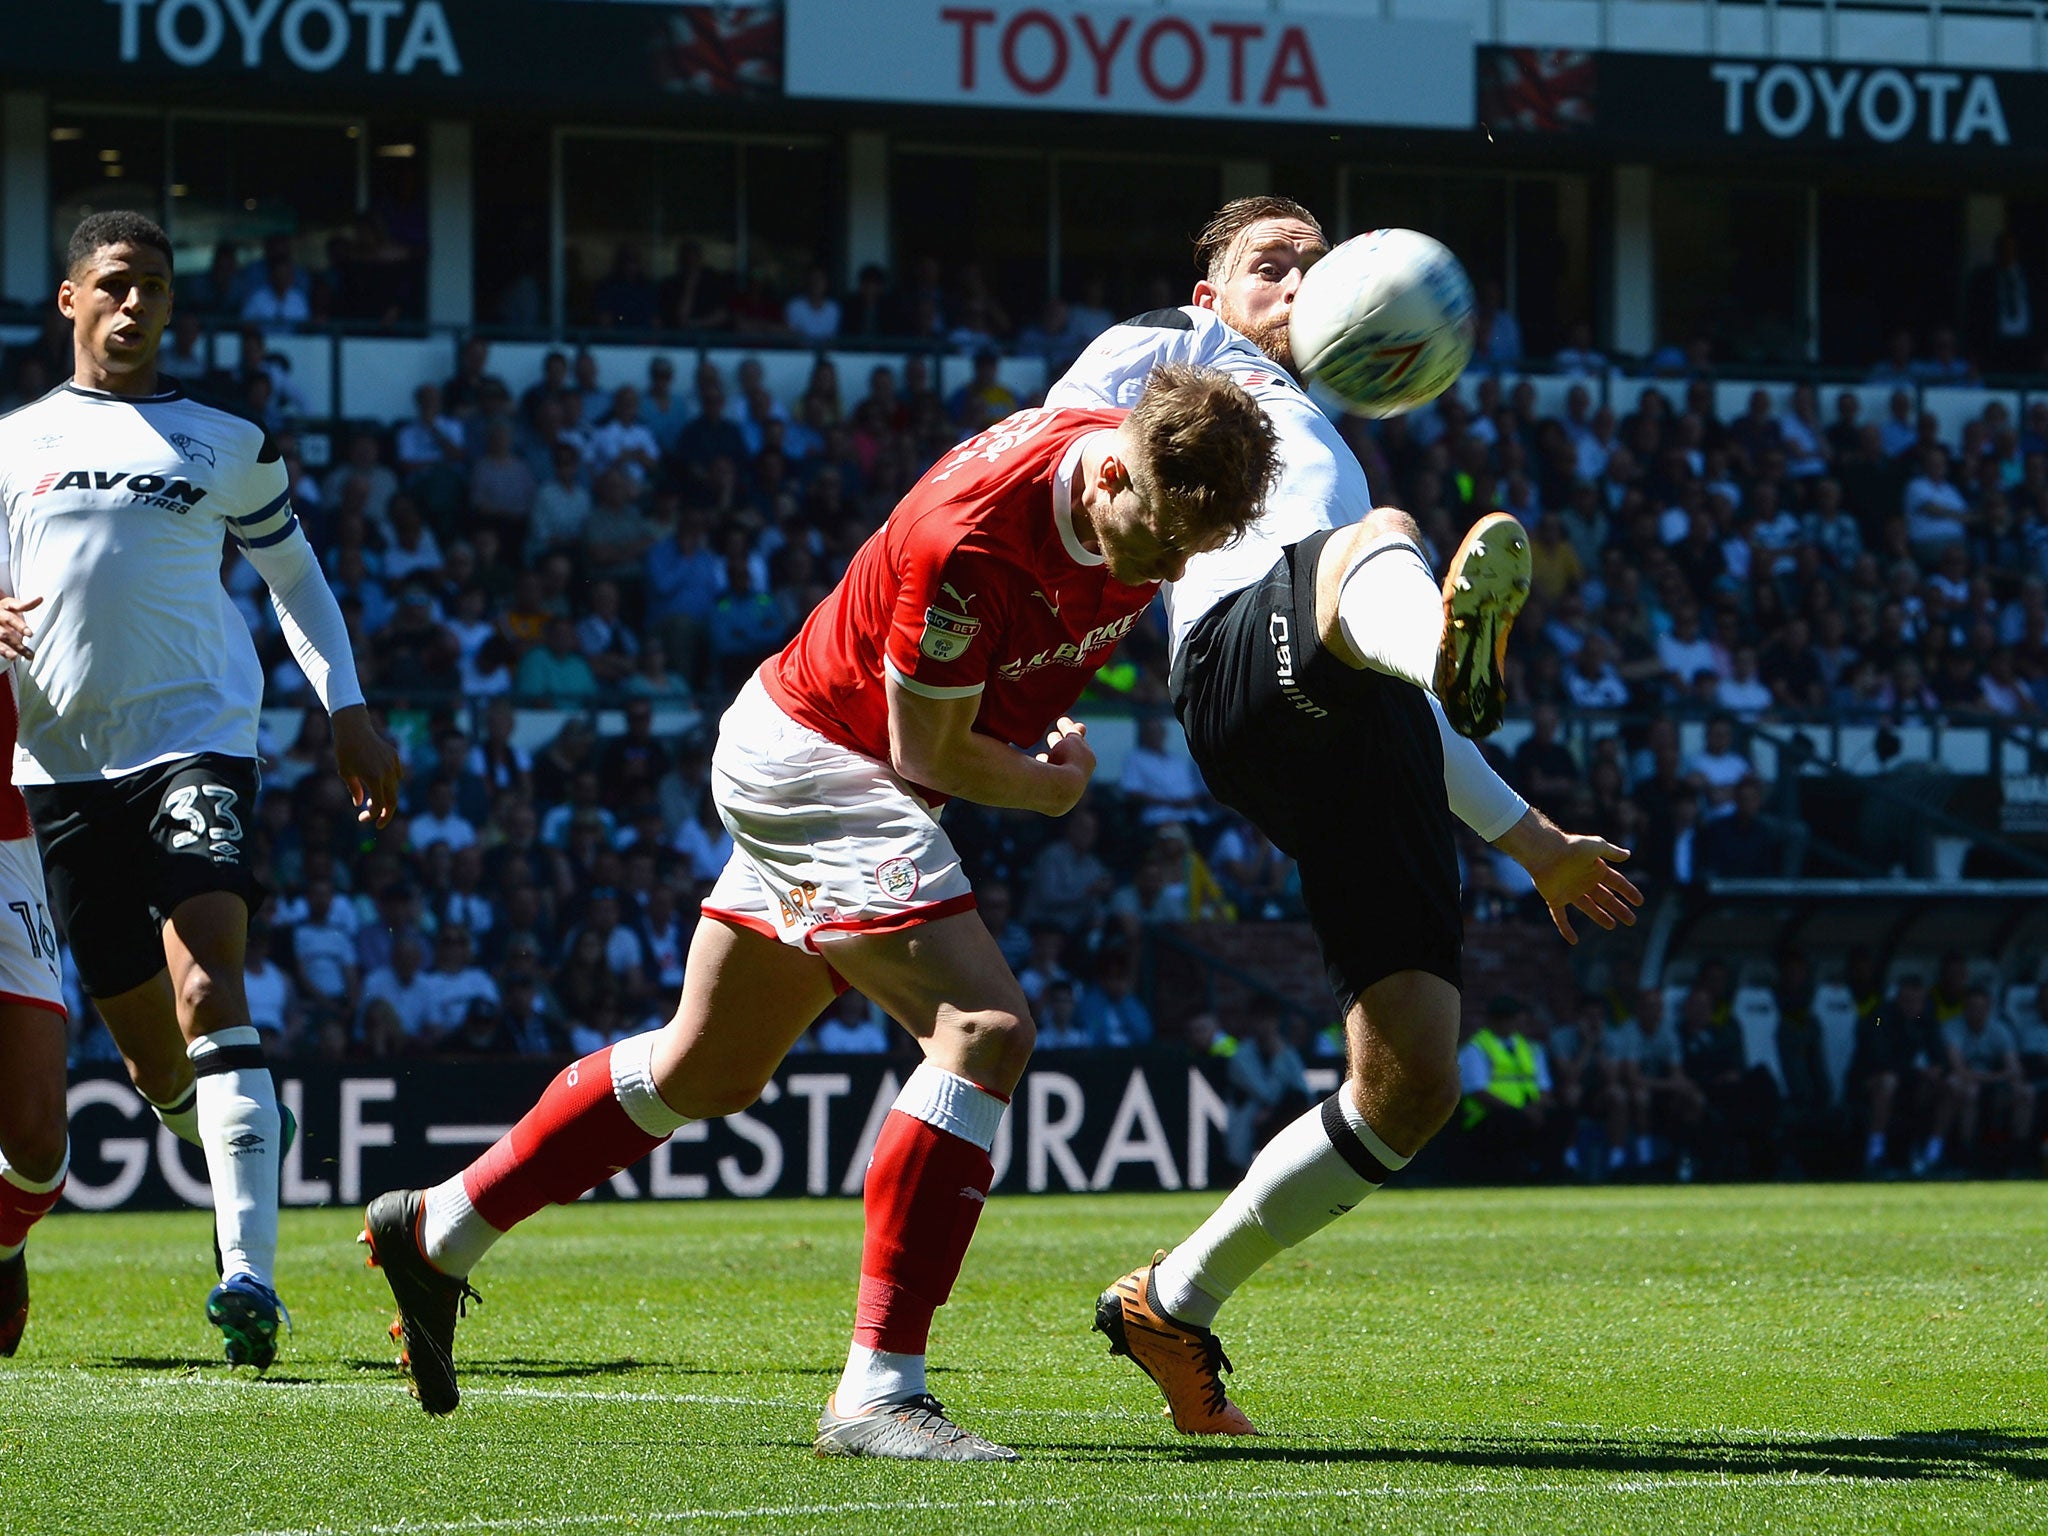
<svg viewBox="0 0 2048 1536"><path fill-rule="evenodd" d="M250 758L203 752L125 778L23 784L43 850L49 909L94 997L139 987L164 969L164 922L180 901L233 891L250 909Z"/></svg>

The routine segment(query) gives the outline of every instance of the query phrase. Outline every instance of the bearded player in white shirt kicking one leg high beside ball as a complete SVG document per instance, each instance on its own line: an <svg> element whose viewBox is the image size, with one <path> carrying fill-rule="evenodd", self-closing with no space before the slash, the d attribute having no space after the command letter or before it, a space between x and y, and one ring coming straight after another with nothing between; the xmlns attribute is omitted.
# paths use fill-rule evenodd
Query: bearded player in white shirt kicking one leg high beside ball
<svg viewBox="0 0 2048 1536"><path fill-rule="evenodd" d="M1047 393L1126 403L1161 362L1196 362L1237 379L1280 434L1266 514L1165 590L1169 686L1210 793L1298 862L1350 1071L1200 1231L1096 1305L1110 1350L1159 1384L1186 1434L1253 1434L1219 1374L1223 1303L1405 1167L1458 1104L1452 815L1530 870L1567 940L1567 907L1614 928L1640 901L1608 862L1626 850L1559 831L1464 739L1501 719L1528 539L1505 514L1481 518L1438 590L1413 518L1374 510L1356 455L1292 377L1294 293L1325 250L1298 203L1229 203L1196 244L1194 303L1112 326Z"/></svg>

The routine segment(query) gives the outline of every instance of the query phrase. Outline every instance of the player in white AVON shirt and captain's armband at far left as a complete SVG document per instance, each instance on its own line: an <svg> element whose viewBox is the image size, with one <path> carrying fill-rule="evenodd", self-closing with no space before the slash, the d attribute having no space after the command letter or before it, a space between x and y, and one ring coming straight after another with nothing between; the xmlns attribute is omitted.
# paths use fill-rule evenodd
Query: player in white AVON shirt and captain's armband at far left
<svg viewBox="0 0 2048 1536"><path fill-rule="evenodd" d="M16 674L14 782L84 989L143 1098L207 1153L221 1253L207 1319L229 1364L264 1368L283 1317L283 1126L244 995L262 668L221 588L229 537L334 717L362 821L389 821L399 764L276 444L158 377L170 301L164 231L88 217L57 287L76 373L0 420L0 590L43 602Z"/></svg>

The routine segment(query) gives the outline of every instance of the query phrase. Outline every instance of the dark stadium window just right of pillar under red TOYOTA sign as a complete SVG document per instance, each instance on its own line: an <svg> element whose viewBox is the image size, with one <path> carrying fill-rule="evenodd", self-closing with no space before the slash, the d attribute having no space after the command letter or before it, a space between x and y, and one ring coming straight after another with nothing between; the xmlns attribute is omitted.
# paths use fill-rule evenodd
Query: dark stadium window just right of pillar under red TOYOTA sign
<svg viewBox="0 0 2048 1536"><path fill-rule="evenodd" d="M950 287L977 264L1016 326L1044 301L1053 203L1036 152L958 154L903 145L889 164L889 248L899 287L938 262ZM1079 297L1077 293L1067 297Z"/></svg>

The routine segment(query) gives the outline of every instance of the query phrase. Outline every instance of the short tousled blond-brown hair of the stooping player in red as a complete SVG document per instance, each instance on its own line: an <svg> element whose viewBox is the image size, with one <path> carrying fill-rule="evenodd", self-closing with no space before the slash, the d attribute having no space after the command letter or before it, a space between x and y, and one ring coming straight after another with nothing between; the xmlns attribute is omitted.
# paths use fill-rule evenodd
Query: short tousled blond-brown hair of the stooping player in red
<svg viewBox="0 0 2048 1536"><path fill-rule="evenodd" d="M1130 483L1165 512L1163 532L1241 535L1280 473L1280 434L1243 385L1214 369L1161 362L1124 422Z"/></svg>

